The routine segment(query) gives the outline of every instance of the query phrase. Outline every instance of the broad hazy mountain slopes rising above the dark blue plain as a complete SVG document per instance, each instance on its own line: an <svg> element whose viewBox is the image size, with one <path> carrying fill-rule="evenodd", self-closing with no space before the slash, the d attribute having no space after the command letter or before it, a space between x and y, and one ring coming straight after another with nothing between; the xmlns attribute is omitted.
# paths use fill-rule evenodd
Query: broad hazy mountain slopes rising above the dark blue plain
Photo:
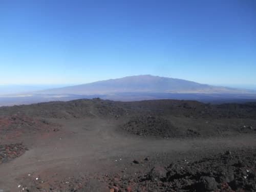
<svg viewBox="0 0 256 192"><path fill-rule="evenodd" d="M37 94L117 94L117 93L200 93L200 94L245 94L246 90L210 86L193 81L152 75L129 76L97 81L78 86L50 89Z"/></svg>

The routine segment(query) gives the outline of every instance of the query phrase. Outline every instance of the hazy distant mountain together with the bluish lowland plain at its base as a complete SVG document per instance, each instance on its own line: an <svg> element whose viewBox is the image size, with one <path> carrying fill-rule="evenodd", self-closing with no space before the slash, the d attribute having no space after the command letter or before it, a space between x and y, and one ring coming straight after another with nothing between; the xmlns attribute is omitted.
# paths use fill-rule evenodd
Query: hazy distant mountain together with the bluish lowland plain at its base
<svg viewBox="0 0 256 192"><path fill-rule="evenodd" d="M138 75L44 91L0 95L0 106L95 97L118 101L183 99L211 103L256 102L255 91L210 86L183 79Z"/></svg>

